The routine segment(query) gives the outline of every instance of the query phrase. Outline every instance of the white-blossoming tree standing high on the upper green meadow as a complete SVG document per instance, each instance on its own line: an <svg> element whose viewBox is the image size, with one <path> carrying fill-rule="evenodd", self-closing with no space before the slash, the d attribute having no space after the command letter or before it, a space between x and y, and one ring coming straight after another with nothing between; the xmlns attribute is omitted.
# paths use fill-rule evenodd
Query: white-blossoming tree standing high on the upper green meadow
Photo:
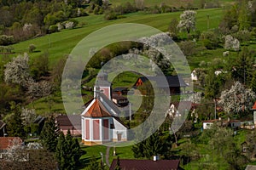
<svg viewBox="0 0 256 170"><path fill-rule="evenodd" d="M187 31L188 34L191 30L195 30L195 14L193 10L186 10L180 15L180 21L177 28L180 31Z"/></svg>

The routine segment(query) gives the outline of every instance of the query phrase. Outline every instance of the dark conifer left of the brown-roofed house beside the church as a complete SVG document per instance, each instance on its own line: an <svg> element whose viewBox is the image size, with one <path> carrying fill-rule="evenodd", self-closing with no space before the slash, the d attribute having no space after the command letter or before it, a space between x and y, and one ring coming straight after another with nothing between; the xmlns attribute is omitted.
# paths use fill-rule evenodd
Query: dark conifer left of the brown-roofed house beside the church
<svg viewBox="0 0 256 170"><path fill-rule="evenodd" d="M51 117L49 121L45 122L40 139L46 150L54 152L58 142L57 138L58 132L55 126L55 119Z"/></svg>

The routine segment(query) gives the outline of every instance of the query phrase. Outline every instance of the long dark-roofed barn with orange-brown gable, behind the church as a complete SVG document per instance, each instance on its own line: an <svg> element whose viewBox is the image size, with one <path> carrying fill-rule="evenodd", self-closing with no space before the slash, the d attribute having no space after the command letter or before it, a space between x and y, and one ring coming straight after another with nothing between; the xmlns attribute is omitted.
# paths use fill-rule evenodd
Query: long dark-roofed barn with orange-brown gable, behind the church
<svg viewBox="0 0 256 170"><path fill-rule="evenodd" d="M167 86L166 84L162 83L162 80L165 80L168 82ZM184 81L182 77L179 76L166 76L166 77L138 77L137 81L133 85L133 88L138 88L143 85L143 83L152 81L156 82L156 86L158 88L164 89L164 90L170 90L170 94L180 94L181 90L180 88L185 88L188 86Z"/></svg>

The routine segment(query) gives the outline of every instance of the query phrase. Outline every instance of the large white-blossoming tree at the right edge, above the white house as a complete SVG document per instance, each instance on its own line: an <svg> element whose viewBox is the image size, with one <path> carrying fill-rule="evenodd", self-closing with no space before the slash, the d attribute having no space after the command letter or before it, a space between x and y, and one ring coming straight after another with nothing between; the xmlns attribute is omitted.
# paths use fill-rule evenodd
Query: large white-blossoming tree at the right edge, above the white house
<svg viewBox="0 0 256 170"><path fill-rule="evenodd" d="M250 109L253 105L256 95L253 90L245 88L241 82L235 84L221 93L218 104L224 108L227 113L236 113Z"/></svg>

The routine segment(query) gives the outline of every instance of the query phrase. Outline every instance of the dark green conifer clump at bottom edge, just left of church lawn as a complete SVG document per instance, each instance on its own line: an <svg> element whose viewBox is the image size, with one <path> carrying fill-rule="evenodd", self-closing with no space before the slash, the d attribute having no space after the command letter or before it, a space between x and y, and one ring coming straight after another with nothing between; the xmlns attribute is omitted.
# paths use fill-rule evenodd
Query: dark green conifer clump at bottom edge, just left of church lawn
<svg viewBox="0 0 256 170"><path fill-rule="evenodd" d="M58 161L59 168L62 169L76 169L79 164L79 158L81 156L81 149L78 139L73 139L70 131L67 131L65 138L61 132L58 143L56 145L55 157Z"/></svg>

